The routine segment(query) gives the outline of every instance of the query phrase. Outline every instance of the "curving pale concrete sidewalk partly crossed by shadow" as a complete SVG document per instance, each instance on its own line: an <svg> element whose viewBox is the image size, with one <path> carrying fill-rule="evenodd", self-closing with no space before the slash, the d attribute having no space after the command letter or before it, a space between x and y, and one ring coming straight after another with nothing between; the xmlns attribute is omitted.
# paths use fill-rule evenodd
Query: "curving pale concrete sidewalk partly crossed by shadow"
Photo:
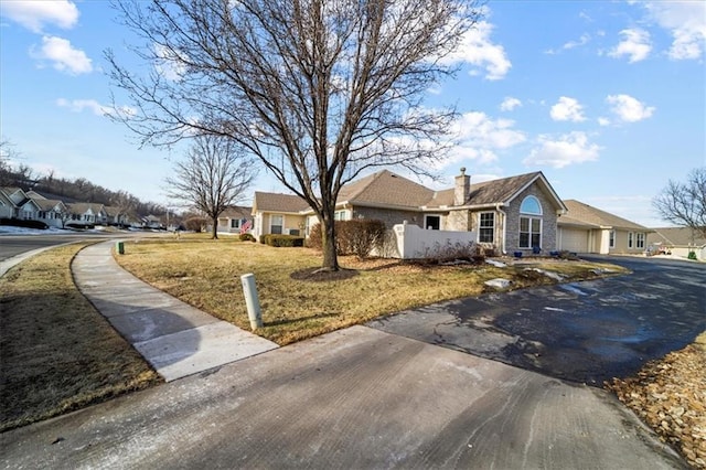
<svg viewBox="0 0 706 470"><path fill-rule="evenodd" d="M278 348L142 282L115 261L114 245L103 242L78 252L74 280L167 382Z"/></svg>

